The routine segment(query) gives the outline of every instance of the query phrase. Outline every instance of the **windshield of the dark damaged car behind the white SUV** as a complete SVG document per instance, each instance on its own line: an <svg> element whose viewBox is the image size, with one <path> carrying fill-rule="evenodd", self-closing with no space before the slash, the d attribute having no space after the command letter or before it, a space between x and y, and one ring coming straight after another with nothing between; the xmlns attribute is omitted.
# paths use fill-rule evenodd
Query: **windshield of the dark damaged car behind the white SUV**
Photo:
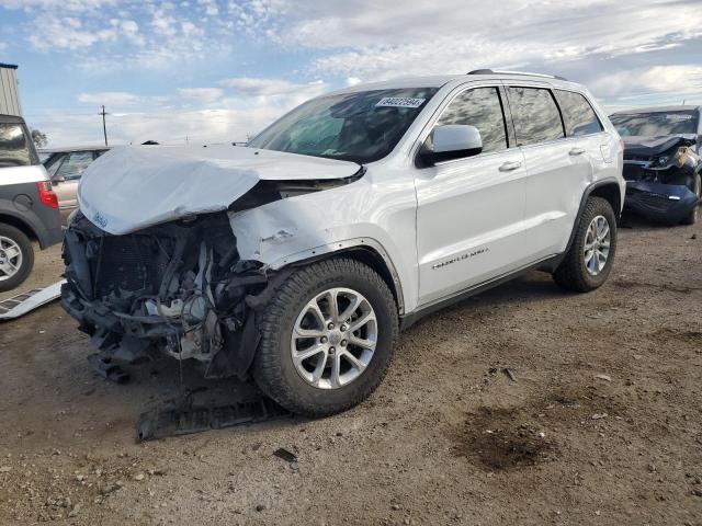
<svg viewBox="0 0 702 526"><path fill-rule="evenodd" d="M610 121L622 137L698 133L697 112L616 113L610 115Z"/></svg>

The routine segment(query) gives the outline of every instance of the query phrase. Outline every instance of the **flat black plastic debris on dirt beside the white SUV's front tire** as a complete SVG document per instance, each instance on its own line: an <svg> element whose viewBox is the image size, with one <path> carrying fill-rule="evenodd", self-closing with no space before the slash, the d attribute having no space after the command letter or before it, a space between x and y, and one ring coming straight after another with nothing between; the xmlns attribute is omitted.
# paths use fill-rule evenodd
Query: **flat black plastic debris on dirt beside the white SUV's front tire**
<svg viewBox="0 0 702 526"><path fill-rule="evenodd" d="M292 416L292 413L263 397L227 404L172 404L141 414L136 442L254 424L283 416Z"/></svg>

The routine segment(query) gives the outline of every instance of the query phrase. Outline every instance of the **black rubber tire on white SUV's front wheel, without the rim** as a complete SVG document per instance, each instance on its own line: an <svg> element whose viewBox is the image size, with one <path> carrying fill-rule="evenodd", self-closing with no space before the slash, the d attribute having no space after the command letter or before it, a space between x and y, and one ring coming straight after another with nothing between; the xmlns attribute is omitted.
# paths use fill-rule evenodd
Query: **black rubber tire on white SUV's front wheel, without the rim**
<svg viewBox="0 0 702 526"><path fill-rule="evenodd" d="M375 311L377 343L373 357L353 381L337 389L314 387L298 374L291 355L295 321L316 295L346 287L363 295ZM346 411L365 400L389 366L398 332L397 307L383 278L355 260L339 258L295 271L257 315L261 342L252 374L261 390L287 410L318 418Z"/></svg>

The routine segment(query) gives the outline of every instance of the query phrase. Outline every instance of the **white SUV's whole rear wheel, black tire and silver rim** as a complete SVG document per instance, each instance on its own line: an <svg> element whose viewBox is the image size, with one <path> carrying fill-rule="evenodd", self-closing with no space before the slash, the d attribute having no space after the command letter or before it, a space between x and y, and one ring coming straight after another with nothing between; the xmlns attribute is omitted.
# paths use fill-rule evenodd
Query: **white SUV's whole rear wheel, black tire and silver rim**
<svg viewBox="0 0 702 526"><path fill-rule="evenodd" d="M616 252L616 217L601 197L588 197L570 249L553 274L566 290L588 293L610 275Z"/></svg>

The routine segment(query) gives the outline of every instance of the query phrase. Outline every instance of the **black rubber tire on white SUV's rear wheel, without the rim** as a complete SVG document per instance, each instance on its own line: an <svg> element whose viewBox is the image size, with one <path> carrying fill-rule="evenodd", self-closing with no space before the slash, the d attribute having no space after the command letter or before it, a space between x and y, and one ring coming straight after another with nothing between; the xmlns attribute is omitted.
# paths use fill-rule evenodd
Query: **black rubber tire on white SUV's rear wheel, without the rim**
<svg viewBox="0 0 702 526"><path fill-rule="evenodd" d="M603 268L597 275L588 272L585 264L585 240L590 222L598 217L603 216L610 227L610 252ZM553 273L556 284L575 293L589 293L599 288L610 275L612 264L616 254L616 216L612 209L612 205L601 197L588 197L585 209L576 226L575 239L568 249L568 252Z"/></svg>

